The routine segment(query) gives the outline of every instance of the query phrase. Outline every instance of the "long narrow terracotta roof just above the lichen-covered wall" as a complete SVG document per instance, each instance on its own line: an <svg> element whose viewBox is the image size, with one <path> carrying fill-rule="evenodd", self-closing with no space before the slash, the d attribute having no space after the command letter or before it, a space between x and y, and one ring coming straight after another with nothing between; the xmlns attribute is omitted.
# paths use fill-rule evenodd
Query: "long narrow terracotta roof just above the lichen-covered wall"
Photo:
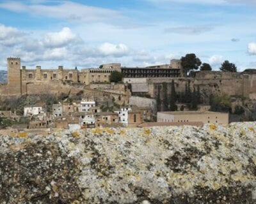
<svg viewBox="0 0 256 204"><path fill-rule="evenodd" d="M197 126L202 127L203 122L145 122L138 125L138 128L147 128L155 126Z"/></svg>

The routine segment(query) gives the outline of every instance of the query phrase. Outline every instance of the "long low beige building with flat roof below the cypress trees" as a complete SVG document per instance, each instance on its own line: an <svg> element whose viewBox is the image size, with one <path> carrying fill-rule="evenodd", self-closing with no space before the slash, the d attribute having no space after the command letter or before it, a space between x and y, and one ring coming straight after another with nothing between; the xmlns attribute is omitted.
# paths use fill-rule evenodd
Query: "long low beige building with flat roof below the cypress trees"
<svg viewBox="0 0 256 204"><path fill-rule="evenodd" d="M228 113L209 111L158 112L157 122L204 122L204 124L228 124Z"/></svg>

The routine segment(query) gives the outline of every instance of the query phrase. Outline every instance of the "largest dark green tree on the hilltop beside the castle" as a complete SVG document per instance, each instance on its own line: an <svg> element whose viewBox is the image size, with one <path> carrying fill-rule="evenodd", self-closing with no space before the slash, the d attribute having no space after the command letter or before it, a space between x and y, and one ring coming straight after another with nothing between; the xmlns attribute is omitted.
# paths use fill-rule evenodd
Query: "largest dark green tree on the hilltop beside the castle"
<svg viewBox="0 0 256 204"><path fill-rule="evenodd" d="M181 57L180 61L186 73L186 76L188 75L190 70L198 69L199 66L202 64L200 59L196 57L195 54L186 54L185 57Z"/></svg>

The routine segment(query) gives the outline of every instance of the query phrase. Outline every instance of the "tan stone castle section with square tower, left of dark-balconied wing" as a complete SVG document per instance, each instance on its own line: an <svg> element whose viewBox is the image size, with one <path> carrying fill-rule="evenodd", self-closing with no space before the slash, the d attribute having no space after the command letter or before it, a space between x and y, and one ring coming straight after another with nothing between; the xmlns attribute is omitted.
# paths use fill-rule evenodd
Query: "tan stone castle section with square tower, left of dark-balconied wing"
<svg viewBox="0 0 256 204"><path fill-rule="evenodd" d="M35 69L27 69L22 66L20 69L20 58L10 57L8 64L8 84L1 85L0 92L8 95L28 94L28 87L36 85L55 84L72 82L88 85L91 83L108 83L109 76L113 71L121 71L121 64L102 64L97 69L64 69L58 66L57 69L42 69L36 66Z"/></svg>

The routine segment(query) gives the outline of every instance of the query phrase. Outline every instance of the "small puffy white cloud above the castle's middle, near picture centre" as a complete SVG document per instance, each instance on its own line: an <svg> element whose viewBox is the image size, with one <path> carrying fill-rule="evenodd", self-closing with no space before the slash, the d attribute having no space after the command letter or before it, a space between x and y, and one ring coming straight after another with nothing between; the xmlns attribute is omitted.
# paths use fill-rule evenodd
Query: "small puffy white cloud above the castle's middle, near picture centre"
<svg viewBox="0 0 256 204"><path fill-rule="evenodd" d="M111 43L103 43L99 47L100 53L103 55L114 55L114 56L122 56L128 54L128 47L124 44L114 45Z"/></svg>

